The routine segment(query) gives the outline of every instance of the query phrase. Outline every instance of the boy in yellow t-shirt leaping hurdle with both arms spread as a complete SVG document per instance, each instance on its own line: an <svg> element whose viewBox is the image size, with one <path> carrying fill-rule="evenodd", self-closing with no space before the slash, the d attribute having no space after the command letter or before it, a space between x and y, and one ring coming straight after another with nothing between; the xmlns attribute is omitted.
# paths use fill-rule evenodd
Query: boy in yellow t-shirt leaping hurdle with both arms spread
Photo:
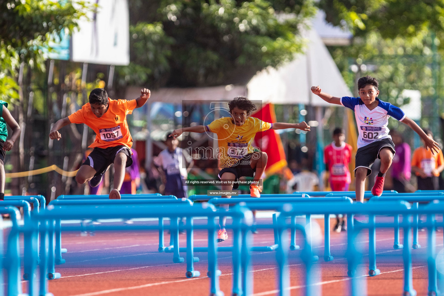
<svg viewBox="0 0 444 296"><path fill-rule="evenodd" d="M246 97L236 97L228 103L231 117L219 118L211 122L208 126L190 126L174 130L170 136L177 138L183 132L204 133L211 132L218 135L218 155L220 167L218 177L228 183L222 185L222 190L237 189L238 181L241 177L254 177L253 184L258 184L259 179L265 171L267 165L267 154L258 151L252 146L254 136L259 131L281 130L286 128L298 128L309 131L310 126L305 122L283 123L283 122L263 122L262 120L250 117L257 108ZM250 196L260 197L262 190L258 185L250 185ZM226 196L230 198L231 196ZM228 209L228 205L225 207ZM219 217L220 230L218 232L218 242L225 241L228 235L225 230L226 217Z"/></svg>

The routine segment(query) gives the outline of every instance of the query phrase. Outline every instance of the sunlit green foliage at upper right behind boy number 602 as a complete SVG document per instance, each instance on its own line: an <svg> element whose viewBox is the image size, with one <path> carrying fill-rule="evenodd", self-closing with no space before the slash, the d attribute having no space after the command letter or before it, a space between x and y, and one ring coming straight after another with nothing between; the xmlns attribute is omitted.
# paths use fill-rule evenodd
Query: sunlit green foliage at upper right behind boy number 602
<svg viewBox="0 0 444 296"><path fill-rule="evenodd" d="M373 75L380 97L397 106L409 100L400 97L404 89L421 91L421 125L437 132L444 95L444 1L321 0L319 6L327 21L353 32L351 46L329 48L349 86L355 88L362 75Z"/></svg>

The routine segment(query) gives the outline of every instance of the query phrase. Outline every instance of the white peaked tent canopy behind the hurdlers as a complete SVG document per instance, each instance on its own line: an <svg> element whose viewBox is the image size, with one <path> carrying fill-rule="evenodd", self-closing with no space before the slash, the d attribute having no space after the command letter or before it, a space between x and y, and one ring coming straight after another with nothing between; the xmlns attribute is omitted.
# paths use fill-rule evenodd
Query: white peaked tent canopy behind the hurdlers
<svg viewBox="0 0 444 296"><path fill-rule="evenodd" d="M334 96L351 96L341 73L317 32L305 32L305 54L290 63L258 72L247 84L248 98L276 104L329 106L310 87L319 85Z"/></svg>

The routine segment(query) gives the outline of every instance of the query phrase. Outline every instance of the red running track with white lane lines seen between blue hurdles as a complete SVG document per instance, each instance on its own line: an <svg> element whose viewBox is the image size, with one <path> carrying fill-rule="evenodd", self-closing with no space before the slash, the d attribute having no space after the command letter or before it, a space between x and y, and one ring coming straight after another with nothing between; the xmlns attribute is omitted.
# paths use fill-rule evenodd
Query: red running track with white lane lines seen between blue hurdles
<svg viewBox="0 0 444 296"><path fill-rule="evenodd" d="M323 229L323 220L316 220ZM333 220L331 221L333 224ZM138 222L136 222L138 223ZM260 224L260 221L259 221ZM421 249L413 253L413 287L418 295L427 295L426 232L420 232ZM169 238L165 232L165 236ZM230 237L230 233L229 233ZM323 233L319 233L323 237ZM402 237L402 231L401 231ZM206 246L206 233L196 231L195 246ZM402 239L401 239L402 241ZM442 247L443 235L437 233L437 251ZM331 250L334 260L323 261L323 240L315 247L320 260L317 267L321 278L317 286L324 296L349 295L350 278L347 276L345 260L346 233L334 233L331 236ZM180 244L185 246L185 235L180 235ZM254 235L254 245L272 245L271 230L260 230ZM231 245L230 239L220 244ZM363 253L368 254L368 236L361 237ZM63 233L63 254L66 263L56 266L56 272L62 277L49 281L49 292L55 296L126 296L126 295L166 295L196 296L209 294L209 280L206 253L195 253L200 262L195 263L195 270L201 272L198 278L185 277L186 263L173 264L172 253L159 253L158 234L155 231L139 232L97 232L94 236L80 236L79 232ZM377 264L381 274L375 277L365 276L368 272L368 258L361 266L360 274L367 280L369 296L399 296L403 288L403 265L401 250L393 250L393 230L377 231ZM289 255L291 295L303 295L304 268L299 258L300 250ZM181 254L182 255L182 254ZM185 253L183 253L183 256ZM276 295L276 264L274 252L256 252L252 254L254 263L254 296ZM225 295L231 295L231 254L219 253L220 287ZM24 291L26 287L24 285Z"/></svg>

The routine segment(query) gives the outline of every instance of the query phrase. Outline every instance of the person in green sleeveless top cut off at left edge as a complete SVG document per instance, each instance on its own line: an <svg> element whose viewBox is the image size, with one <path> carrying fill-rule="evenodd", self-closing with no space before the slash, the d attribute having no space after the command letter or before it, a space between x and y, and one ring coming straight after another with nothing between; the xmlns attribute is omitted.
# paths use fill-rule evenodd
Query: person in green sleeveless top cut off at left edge
<svg viewBox="0 0 444 296"><path fill-rule="evenodd" d="M8 110L8 103L0 100L0 200L4 200L4 157L6 155L5 151L9 151L14 146L17 138L20 136L20 126L16 120L12 117ZM6 128L8 125L12 130L11 137L8 138L8 130Z"/></svg>

